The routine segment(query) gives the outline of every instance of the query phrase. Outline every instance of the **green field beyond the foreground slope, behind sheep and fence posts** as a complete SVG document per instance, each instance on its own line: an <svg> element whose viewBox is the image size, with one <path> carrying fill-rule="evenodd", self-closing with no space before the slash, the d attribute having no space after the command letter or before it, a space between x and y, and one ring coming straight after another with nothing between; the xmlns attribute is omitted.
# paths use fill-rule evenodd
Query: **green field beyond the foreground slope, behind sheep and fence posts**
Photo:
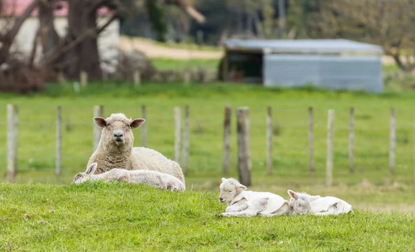
<svg viewBox="0 0 415 252"><path fill-rule="evenodd" d="M286 195L292 188L344 197L379 211L415 213L414 98L412 93L332 93L304 88L268 89L231 84L91 84L79 94L71 85L52 86L44 95L1 95L0 155L6 157L6 105L19 105L18 183L68 184L84 171L93 151L93 106L104 114L140 117L147 106L147 147L174 158L174 107L190 106L187 188L217 191L221 177L237 177L235 109L250 109L252 187ZM54 175L55 114L62 106L62 176ZM223 175L223 114L232 106L230 174ZM273 175L266 175L266 107L273 108ZM314 108L315 177L308 173L308 106ZM349 173L349 107L356 110L355 172ZM389 175L389 110L396 109L396 175ZM327 112L335 110L333 188L326 188ZM183 111L183 110L182 110ZM183 115L183 114L182 114ZM141 144L134 130L135 146ZM1 182L6 178L6 158ZM398 195L398 196L396 196ZM376 205L369 205L374 202Z"/></svg>

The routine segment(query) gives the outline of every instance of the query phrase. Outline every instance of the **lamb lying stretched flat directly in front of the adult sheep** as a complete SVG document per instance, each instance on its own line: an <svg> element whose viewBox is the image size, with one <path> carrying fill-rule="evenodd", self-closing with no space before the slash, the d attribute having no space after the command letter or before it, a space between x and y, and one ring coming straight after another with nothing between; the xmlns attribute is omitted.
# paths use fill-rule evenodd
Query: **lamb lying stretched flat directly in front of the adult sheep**
<svg viewBox="0 0 415 252"><path fill-rule="evenodd" d="M95 175L95 170L98 164L93 163L84 173L78 173L73 178L74 184L81 184L86 181L98 181L102 180L104 182L126 182L133 184L148 184L155 188L160 188L163 190L170 191L185 191L185 184L178 180L177 177L168 175L166 173L160 173L158 171L148 171L148 170L136 170L128 171L120 168L113 168L110 171L105 173L100 173Z"/></svg>

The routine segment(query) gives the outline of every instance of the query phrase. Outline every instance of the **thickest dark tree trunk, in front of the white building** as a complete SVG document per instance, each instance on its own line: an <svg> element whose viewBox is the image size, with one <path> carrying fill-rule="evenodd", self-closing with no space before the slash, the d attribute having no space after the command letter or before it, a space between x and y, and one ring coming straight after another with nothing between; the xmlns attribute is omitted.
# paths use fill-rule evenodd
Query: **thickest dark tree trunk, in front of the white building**
<svg viewBox="0 0 415 252"><path fill-rule="evenodd" d="M97 11L91 3L83 0L69 1L68 32L69 43L87 30L96 27ZM100 54L98 52L98 36L89 35L75 46L75 63L68 69L68 77L77 78L82 70L86 71L91 79L101 79Z"/></svg>

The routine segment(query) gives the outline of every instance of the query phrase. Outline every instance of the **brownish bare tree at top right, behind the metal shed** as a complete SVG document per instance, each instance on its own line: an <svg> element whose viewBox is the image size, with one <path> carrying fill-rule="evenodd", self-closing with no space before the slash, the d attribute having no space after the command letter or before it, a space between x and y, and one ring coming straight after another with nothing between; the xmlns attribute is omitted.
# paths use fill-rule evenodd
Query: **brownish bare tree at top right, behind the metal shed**
<svg viewBox="0 0 415 252"><path fill-rule="evenodd" d="M306 17L309 37L344 37L380 45L403 71L415 69L415 1L326 0Z"/></svg>

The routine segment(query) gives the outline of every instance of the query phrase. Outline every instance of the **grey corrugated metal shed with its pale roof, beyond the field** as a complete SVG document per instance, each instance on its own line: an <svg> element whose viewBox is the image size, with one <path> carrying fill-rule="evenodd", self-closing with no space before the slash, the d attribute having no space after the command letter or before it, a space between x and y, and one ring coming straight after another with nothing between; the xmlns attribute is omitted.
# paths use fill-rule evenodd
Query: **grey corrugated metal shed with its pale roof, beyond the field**
<svg viewBox="0 0 415 252"><path fill-rule="evenodd" d="M332 90L382 93L382 47L346 39L228 40L227 67L238 54L262 55L264 86L311 84ZM237 63L238 62L238 63ZM249 64L247 62L246 64ZM245 76L245 82L252 76Z"/></svg>

